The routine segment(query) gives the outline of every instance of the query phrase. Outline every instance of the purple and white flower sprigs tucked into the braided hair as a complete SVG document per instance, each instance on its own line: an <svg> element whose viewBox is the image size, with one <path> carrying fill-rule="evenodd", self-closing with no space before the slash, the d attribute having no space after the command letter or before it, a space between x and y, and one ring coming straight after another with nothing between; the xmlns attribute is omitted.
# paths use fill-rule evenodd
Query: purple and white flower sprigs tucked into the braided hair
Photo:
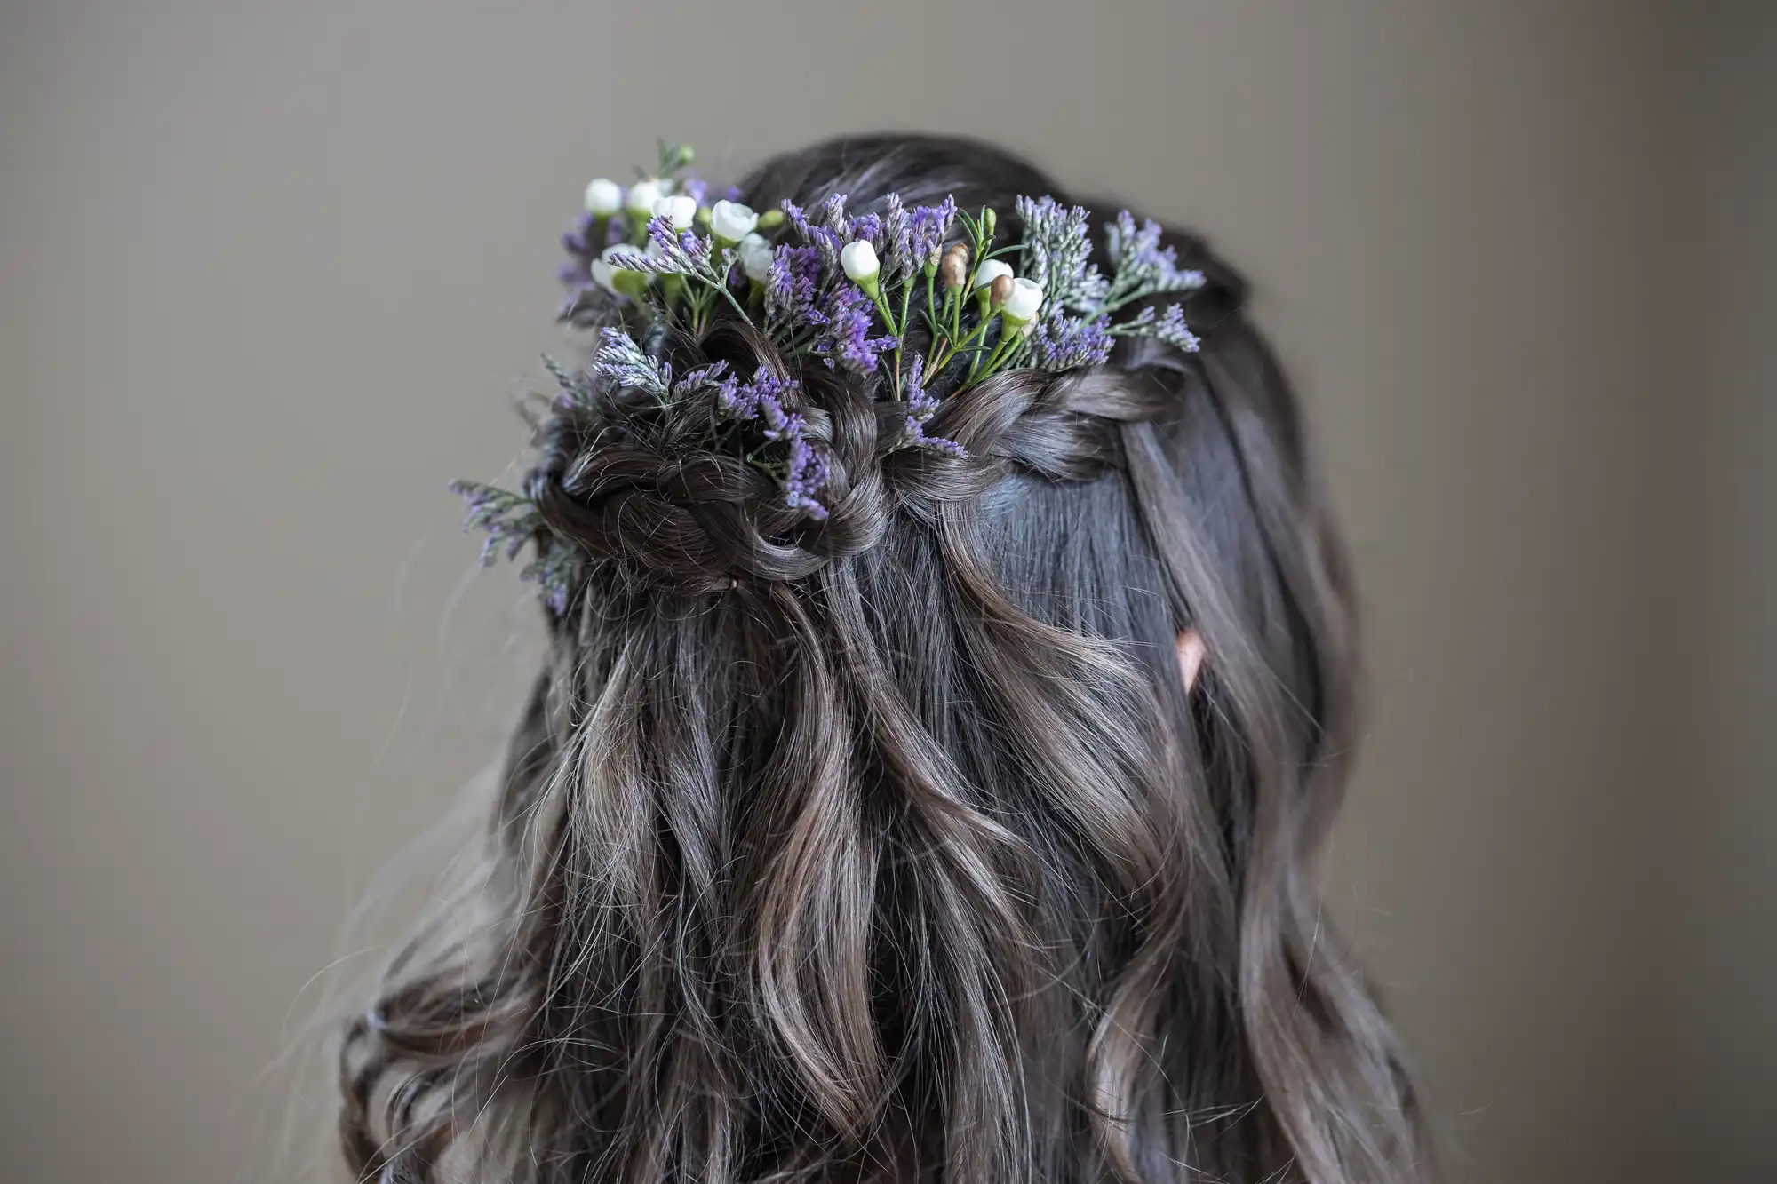
<svg viewBox="0 0 1777 1184"><path fill-rule="evenodd" d="M640 391L659 407L714 398L737 455L768 473L784 505L807 519L828 514L828 462L798 405L798 368L821 364L897 404L897 448L965 455L926 432L945 398L1015 368L1064 372L1109 359L1118 338L1155 338L1196 350L1183 308L1153 297L1203 286L1203 272L1178 267L1160 226L1123 210L1105 224L1109 274L1091 261L1088 212L1054 197L1018 197L1018 242L995 245L993 208L908 208L897 194L881 213L848 217L846 196L801 210L753 212L739 192L705 204L707 185L689 172L693 151L659 144L659 165L627 187L597 178L585 213L563 238L560 320L599 329L583 372L544 359L562 386L558 407L592 411L602 395ZM1016 263L1016 267L1015 267ZM1116 320L1143 302L1134 316ZM643 343L668 331L702 340L720 318L762 334L785 372L750 377L727 363L673 373ZM528 539L538 556L524 576L546 601L565 606L578 556L553 544L535 500L457 482L469 500L467 526L489 533L482 562L515 556Z"/></svg>

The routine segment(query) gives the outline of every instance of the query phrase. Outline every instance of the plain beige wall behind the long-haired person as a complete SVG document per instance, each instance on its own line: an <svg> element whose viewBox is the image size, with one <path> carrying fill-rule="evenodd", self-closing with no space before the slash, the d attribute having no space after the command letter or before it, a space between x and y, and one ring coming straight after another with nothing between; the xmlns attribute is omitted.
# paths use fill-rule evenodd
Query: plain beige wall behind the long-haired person
<svg viewBox="0 0 1777 1184"><path fill-rule="evenodd" d="M878 126L1255 277L1368 604L1333 908L1459 1177L1772 1179L1773 59L1725 2L11 0L0 1179L327 1163L286 1051L533 644L442 487L579 187Z"/></svg>

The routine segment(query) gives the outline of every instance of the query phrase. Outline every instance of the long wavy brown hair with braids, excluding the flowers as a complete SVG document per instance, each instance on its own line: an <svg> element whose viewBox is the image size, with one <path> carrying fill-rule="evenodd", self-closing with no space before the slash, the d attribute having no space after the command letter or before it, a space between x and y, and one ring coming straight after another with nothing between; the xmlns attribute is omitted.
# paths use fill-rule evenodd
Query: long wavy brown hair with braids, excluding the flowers
<svg viewBox="0 0 1777 1184"><path fill-rule="evenodd" d="M1061 196L979 144L873 137L768 162L741 201L833 192ZM1207 276L1199 352L963 386L924 421L954 446L904 446L876 388L739 316L654 334L677 373L794 379L819 516L714 443L714 396L551 414L530 494L581 558L476 908L350 1031L355 1170L1422 1172L1308 868L1352 738L1343 560L1240 281L1169 242Z"/></svg>

